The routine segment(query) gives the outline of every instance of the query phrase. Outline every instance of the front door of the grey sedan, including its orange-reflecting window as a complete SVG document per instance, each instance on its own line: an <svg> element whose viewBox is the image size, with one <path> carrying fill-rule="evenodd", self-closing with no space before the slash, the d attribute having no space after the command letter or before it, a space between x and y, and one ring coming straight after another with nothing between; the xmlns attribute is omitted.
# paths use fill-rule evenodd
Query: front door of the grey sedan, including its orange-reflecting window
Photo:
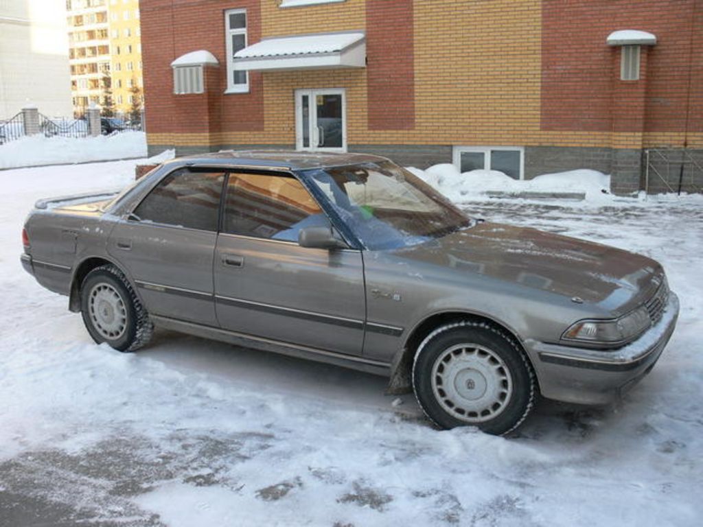
<svg viewBox="0 0 703 527"><path fill-rule="evenodd" d="M300 247L328 219L290 174L229 174L214 261L221 327L361 355L366 302L361 252Z"/></svg>

